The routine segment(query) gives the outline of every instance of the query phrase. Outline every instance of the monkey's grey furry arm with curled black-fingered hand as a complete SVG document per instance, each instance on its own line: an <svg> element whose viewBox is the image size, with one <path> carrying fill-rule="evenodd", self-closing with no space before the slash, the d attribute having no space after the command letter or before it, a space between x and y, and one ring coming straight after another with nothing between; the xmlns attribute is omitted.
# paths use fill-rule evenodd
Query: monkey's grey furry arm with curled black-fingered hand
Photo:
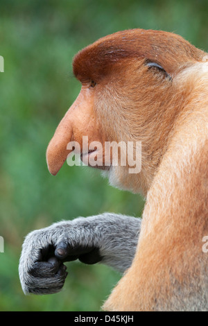
<svg viewBox="0 0 208 326"><path fill-rule="evenodd" d="M105 213L29 233L19 261L24 293L60 291L67 277L64 261L101 261L124 272L135 256L140 228L141 218Z"/></svg>

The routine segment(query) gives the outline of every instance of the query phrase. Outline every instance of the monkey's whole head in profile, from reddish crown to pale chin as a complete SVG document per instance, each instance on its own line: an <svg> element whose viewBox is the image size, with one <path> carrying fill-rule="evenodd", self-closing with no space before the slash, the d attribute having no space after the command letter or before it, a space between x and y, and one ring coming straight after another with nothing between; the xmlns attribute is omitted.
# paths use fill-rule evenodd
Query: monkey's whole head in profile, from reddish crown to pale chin
<svg viewBox="0 0 208 326"><path fill-rule="evenodd" d="M93 166L104 171L112 185L146 194L191 92L177 76L203 55L178 35L142 29L108 35L80 51L73 59L73 74L82 87L47 148L51 174L58 173L72 151L67 144L76 141L83 162L93 165L90 157L95 159ZM95 146L83 148L83 136ZM112 141L126 144L126 164L112 164L113 152L105 151ZM133 144L130 151L128 144ZM138 173L129 170L132 152L133 162L141 159Z"/></svg>

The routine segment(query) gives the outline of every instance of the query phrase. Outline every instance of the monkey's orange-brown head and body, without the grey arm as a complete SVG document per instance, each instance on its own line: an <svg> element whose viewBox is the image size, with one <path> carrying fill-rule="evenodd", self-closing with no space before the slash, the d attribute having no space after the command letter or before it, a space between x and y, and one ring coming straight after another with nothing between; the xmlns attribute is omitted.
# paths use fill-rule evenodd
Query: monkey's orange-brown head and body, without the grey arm
<svg viewBox="0 0 208 326"><path fill-rule="evenodd" d="M112 172L112 184L147 201L135 259L103 309L208 309L205 54L178 35L136 29L103 37L73 60L83 87L49 144L51 173L71 139L142 142L141 173Z"/></svg>

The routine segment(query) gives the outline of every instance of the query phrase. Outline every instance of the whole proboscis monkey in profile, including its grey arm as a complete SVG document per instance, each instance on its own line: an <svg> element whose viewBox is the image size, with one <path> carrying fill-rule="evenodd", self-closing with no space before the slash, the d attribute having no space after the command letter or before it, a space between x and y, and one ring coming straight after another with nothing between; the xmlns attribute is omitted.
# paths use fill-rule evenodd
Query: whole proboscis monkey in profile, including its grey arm
<svg viewBox="0 0 208 326"><path fill-rule="evenodd" d="M82 88L47 149L58 173L67 144L141 141L141 171L96 166L110 184L146 196L141 218L101 214L35 230L24 241L24 293L55 293L64 261L98 261L123 277L105 302L110 311L207 310L208 65L182 37L135 29L101 38L73 59ZM110 161L109 161L110 160ZM138 241L139 239L139 241Z"/></svg>

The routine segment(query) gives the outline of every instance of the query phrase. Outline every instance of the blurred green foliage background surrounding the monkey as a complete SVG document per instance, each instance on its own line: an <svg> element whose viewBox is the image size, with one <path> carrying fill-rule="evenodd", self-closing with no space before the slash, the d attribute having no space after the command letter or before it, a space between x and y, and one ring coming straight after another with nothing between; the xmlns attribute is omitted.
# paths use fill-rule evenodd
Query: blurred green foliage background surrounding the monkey
<svg viewBox="0 0 208 326"><path fill-rule="evenodd" d="M141 196L113 189L97 171L46 167L46 146L78 95L73 55L99 37L128 28L182 35L208 49L208 1L1 0L0 253L1 311L96 311L121 275L106 266L67 263L61 293L25 296L18 262L28 232L102 212L141 216Z"/></svg>

